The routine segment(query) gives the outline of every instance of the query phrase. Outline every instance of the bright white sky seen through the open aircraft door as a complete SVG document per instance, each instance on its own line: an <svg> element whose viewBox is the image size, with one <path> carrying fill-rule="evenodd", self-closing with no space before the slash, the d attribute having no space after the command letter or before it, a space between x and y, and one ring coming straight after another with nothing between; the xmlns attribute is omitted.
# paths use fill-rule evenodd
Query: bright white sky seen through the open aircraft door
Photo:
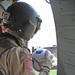
<svg viewBox="0 0 75 75"><path fill-rule="evenodd" d="M28 47L52 47L57 45L56 30L51 5L45 0L20 0L30 4L42 19L41 29L28 41Z"/></svg>

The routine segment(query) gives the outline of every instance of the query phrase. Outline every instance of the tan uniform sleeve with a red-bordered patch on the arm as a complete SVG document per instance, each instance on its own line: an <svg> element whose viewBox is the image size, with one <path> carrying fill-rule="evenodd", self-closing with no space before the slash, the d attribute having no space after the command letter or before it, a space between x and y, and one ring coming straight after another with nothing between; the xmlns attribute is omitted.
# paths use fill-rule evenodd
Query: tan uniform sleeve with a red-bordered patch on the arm
<svg viewBox="0 0 75 75"><path fill-rule="evenodd" d="M4 75L35 75L32 60L26 49L12 48L1 56L1 70Z"/></svg>

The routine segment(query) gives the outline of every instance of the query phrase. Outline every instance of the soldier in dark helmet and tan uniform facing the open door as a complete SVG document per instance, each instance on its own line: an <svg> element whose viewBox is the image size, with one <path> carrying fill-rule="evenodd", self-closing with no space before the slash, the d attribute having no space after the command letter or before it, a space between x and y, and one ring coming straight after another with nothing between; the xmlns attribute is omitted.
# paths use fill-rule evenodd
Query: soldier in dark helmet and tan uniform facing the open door
<svg viewBox="0 0 75 75"><path fill-rule="evenodd" d="M26 42L40 29L40 16L24 2L13 3L2 15L0 75L35 75Z"/></svg>

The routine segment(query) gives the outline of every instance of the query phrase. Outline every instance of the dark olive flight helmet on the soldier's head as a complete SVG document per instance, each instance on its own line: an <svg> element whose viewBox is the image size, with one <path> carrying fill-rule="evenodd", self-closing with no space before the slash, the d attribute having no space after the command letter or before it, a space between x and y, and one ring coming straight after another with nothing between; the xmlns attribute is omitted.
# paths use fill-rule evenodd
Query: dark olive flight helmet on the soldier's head
<svg viewBox="0 0 75 75"><path fill-rule="evenodd" d="M5 18L6 28L17 33L22 39L29 40L40 29L40 16L25 2L15 2L5 12L9 14L8 19Z"/></svg>

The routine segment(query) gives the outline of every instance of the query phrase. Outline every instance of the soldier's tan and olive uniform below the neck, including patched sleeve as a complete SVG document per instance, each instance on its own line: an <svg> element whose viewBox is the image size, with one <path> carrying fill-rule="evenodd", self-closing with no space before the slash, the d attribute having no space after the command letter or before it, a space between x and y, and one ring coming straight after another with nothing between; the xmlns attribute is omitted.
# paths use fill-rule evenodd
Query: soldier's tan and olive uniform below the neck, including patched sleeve
<svg viewBox="0 0 75 75"><path fill-rule="evenodd" d="M11 38L0 37L0 73L3 75L35 75L29 50L20 47Z"/></svg>

